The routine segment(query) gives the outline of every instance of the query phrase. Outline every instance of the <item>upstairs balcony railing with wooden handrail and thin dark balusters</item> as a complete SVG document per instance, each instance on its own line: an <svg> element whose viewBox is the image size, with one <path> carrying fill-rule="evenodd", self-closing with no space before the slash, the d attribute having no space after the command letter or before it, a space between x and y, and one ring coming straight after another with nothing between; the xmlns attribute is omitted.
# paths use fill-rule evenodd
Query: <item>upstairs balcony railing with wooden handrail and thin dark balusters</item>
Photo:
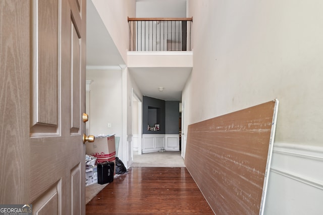
<svg viewBox="0 0 323 215"><path fill-rule="evenodd" d="M130 51L191 51L193 18L129 18Z"/></svg>

